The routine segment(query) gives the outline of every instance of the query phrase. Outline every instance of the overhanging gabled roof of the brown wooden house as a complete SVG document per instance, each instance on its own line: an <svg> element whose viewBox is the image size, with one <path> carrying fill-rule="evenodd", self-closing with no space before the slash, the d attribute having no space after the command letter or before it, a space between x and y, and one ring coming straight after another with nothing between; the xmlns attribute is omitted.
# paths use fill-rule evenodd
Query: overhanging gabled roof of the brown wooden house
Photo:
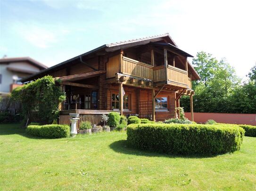
<svg viewBox="0 0 256 191"><path fill-rule="evenodd" d="M105 54L105 53L108 53L108 52L114 52L114 51L119 50L119 49L129 48L129 47L133 47L133 46L146 45L146 44L151 43L151 42L157 42L157 41L159 41L163 38L166 39L165 40L166 43L167 43L167 41L169 41L170 45L173 45L174 47L178 48L178 46L175 44L173 39L170 37L169 33L165 33L165 34L161 34L161 35L155 35L155 36L149 36L149 37L145 37L145 38L136 38L136 39L132 39L132 40L120 41L120 42L116 42L116 43L105 44L105 45L99 46L98 48L95 48L95 49L93 49L93 50L91 50L87 53L83 53L83 54L80 54L78 56L75 56L74 58L63 61L63 62L61 62L61 63L59 63L55 66L52 66L48 69L41 70L40 72L38 72L34 75L31 75L27 78L24 78L22 80L22 82L27 82L27 81L33 80L34 78L36 78L38 76L45 75L45 74L47 74L47 72L54 71L57 68L63 67L71 61L80 60L81 56L82 57L83 56L89 56L93 53L99 53L99 52L103 52L102 54ZM189 63L189 65L190 65L190 68L193 70L192 73L196 74L197 79L200 79L196 70L192 67L192 65L190 63Z"/></svg>

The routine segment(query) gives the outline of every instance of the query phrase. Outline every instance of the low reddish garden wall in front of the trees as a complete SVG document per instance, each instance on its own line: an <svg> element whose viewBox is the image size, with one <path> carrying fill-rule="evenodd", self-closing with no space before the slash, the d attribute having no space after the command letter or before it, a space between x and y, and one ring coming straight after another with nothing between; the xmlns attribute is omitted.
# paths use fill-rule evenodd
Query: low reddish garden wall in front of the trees
<svg viewBox="0 0 256 191"><path fill-rule="evenodd" d="M190 113L185 117L191 119ZM256 114L221 114L221 113L194 113L195 122L206 122L213 119L215 122L256 125Z"/></svg>

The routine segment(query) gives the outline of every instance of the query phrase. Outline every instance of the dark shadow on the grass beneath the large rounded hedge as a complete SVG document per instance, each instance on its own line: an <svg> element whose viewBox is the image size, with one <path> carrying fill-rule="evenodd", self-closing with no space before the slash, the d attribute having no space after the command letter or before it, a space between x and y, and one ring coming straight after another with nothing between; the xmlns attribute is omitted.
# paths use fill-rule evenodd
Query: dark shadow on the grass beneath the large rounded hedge
<svg viewBox="0 0 256 191"><path fill-rule="evenodd" d="M194 158L194 159L202 159L202 158L213 158L217 155L210 154L190 154L190 155L181 155L181 154L168 154L168 153L157 153L153 151L142 151L136 148L132 148L128 145L127 140L119 140L111 143L109 145L116 153L124 153L129 155L137 155L137 156L148 156L148 157L167 157L167 158Z"/></svg>

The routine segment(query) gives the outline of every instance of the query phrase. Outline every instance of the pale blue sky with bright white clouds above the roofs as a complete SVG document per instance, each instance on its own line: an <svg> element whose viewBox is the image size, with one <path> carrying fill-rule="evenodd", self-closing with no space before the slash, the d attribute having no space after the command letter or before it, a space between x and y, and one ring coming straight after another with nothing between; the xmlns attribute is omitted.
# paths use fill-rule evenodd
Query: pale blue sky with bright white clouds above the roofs
<svg viewBox="0 0 256 191"><path fill-rule="evenodd" d="M103 44L168 32L184 51L256 62L255 0L0 0L0 57L52 66Z"/></svg>

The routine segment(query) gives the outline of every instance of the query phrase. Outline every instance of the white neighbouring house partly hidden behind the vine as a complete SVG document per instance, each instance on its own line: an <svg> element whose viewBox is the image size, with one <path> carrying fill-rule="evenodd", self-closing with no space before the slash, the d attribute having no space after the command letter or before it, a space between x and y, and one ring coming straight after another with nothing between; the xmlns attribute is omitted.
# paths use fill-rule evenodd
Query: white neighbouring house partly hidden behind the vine
<svg viewBox="0 0 256 191"><path fill-rule="evenodd" d="M22 78L47 68L30 57L0 59L0 97L6 97L14 88L22 85Z"/></svg>

